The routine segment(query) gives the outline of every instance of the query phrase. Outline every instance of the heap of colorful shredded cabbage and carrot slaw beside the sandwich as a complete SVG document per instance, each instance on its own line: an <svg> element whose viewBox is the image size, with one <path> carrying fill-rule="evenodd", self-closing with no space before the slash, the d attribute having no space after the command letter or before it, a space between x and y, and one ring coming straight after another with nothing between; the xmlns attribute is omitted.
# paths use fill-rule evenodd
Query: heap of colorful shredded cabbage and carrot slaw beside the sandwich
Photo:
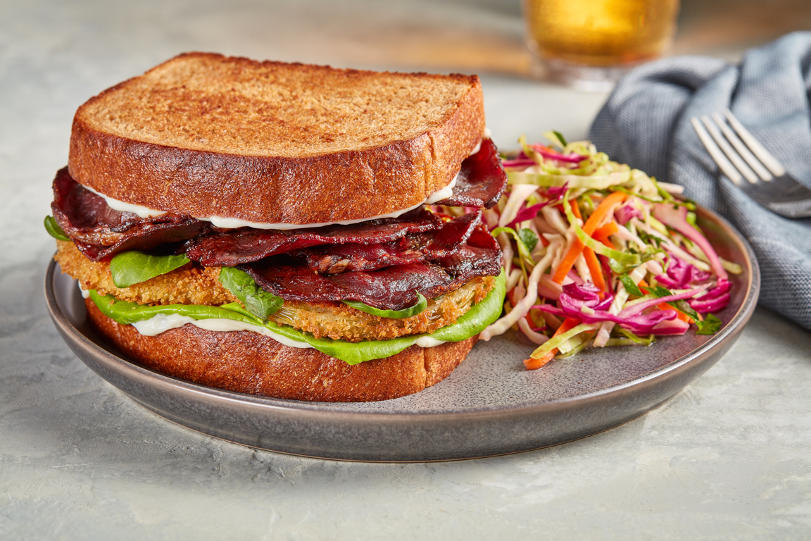
<svg viewBox="0 0 811 541"><path fill-rule="evenodd" d="M589 141L527 144L503 156L508 191L485 219L504 251L505 314L480 338L508 328L539 347L542 367L587 347L650 345L654 337L719 330L727 306L723 260L695 225L681 187L611 161Z"/></svg>

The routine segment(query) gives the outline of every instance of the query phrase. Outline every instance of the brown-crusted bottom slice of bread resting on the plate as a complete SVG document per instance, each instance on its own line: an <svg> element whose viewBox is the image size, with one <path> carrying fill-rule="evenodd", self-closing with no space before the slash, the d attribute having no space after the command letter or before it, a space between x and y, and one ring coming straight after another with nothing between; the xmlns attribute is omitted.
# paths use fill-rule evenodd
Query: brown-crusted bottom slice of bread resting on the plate
<svg viewBox="0 0 811 541"><path fill-rule="evenodd" d="M247 331L217 333L187 324L146 337L109 319L89 298L85 305L102 337L154 370L208 387L294 400L376 401L417 393L448 377L478 340L411 346L388 359L349 365Z"/></svg>

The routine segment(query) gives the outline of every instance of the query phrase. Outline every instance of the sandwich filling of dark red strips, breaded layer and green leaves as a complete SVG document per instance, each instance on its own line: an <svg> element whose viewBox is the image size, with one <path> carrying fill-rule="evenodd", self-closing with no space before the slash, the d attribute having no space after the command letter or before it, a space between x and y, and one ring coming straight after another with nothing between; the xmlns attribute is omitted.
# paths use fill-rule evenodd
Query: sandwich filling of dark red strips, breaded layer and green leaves
<svg viewBox="0 0 811 541"><path fill-rule="evenodd" d="M467 207L456 217L420 205L346 225L226 229L179 213L140 217L111 208L62 170L52 209L55 227L72 242L59 243L56 258L102 313L144 335L186 324L251 330L358 363L414 344L466 340L499 316L502 256L481 208L496 204L505 183L495 146L484 140L449 196L436 201ZM178 263L143 276L136 269L126 280L111 271L133 254ZM224 286L223 268L237 269L278 306L257 316ZM414 311L420 298L425 306ZM388 316L409 311L414 316Z"/></svg>

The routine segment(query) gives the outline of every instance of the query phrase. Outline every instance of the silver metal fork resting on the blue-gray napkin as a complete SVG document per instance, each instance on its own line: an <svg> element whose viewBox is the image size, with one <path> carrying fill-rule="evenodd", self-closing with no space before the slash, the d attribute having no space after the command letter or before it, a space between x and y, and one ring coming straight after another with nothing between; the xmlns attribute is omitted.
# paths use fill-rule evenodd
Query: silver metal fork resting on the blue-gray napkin
<svg viewBox="0 0 811 541"><path fill-rule="evenodd" d="M704 126L698 122L697 118L690 119L698 138L702 140L707 152L710 152L710 156L721 168L723 174L726 174L727 178L735 182L736 186L740 187L757 204L780 216L811 217L811 190L787 174L783 165L780 165L780 162L766 148L763 148L763 145L738 122L729 109L723 113L735 131L727 126L718 113L712 114L715 123L710 121L706 114L702 115ZM721 152L722 149L723 152Z"/></svg>

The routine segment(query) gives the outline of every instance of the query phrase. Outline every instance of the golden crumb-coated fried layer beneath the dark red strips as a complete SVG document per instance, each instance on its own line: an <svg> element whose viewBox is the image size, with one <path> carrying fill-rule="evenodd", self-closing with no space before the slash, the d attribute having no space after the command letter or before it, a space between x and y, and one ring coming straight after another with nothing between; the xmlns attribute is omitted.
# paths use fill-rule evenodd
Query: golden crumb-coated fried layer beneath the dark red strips
<svg viewBox="0 0 811 541"><path fill-rule="evenodd" d="M83 290L112 294L128 303L139 304L208 304L220 306L238 303L220 283L219 267L203 268L186 264L171 273L161 274L130 287L118 288L113 283L108 261L91 261L74 243L57 241L54 259L62 273L79 280ZM495 277L475 277L457 290L432 298L417 316L402 320L372 316L344 303L302 303L285 301L281 310L270 317L277 324L290 325L312 333L316 338L337 340L388 340L418 333L433 333L456 320L490 293Z"/></svg>

